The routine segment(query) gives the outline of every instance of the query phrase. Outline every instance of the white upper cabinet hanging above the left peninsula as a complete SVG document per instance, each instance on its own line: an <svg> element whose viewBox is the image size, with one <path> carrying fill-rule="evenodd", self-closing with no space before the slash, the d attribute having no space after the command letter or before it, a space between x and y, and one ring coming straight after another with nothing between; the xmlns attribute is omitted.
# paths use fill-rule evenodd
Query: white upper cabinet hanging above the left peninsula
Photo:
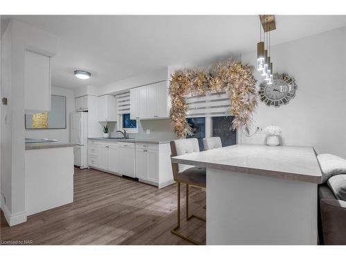
<svg viewBox="0 0 346 260"><path fill-rule="evenodd" d="M50 58L32 51L25 51L24 63L26 113L51 111Z"/></svg>

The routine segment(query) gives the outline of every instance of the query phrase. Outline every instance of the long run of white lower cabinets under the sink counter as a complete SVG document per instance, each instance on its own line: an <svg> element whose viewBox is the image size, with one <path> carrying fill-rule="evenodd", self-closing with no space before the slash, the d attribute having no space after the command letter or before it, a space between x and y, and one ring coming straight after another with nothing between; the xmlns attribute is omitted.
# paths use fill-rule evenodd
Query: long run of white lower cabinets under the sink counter
<svg viewBox="0 0 346 260"><path fill-rule="evenodd" d="M163 188L174 182L170 144L89 141L89 167Z"/></svg>

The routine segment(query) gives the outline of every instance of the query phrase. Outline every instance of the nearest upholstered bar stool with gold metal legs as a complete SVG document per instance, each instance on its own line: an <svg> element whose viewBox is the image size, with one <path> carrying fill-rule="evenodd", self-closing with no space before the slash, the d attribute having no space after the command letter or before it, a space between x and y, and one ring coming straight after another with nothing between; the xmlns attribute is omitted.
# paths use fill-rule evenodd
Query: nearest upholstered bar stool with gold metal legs
<svg viewBox="0 0 346 260"><path fill-rule="evenodd" d="M196 138L191 139L178 139L170 141L171 146L171 157L177 155L185 155L186 153L197 153L199 152L199 144ZM180 227L180 184L186 184L186 221L191 218L198 218L199 220L206 221L205 218L196 216L192 214L189 216L189 185L206 188L206 168L199 168L196 166L190 166L185 164L174 164L172 163L172 172L174 181L178 185L178 200L177 200L177 225L171 229L171 233L176 236L181 237L185 241L193 243L195 245L201 245L198 241L190 239L187 236L183 236L180 232L177 231Z"/></svg>

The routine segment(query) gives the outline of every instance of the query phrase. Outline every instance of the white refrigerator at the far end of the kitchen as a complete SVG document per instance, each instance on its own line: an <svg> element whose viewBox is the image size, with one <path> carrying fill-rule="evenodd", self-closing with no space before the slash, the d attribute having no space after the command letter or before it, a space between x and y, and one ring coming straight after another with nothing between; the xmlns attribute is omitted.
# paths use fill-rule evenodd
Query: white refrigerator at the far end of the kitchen
<svg viewBox="0 0 346 260"><path fill-rule="evenodd" d="M88 112L71 113L71 144L75 166L88 168Z"/></svg>

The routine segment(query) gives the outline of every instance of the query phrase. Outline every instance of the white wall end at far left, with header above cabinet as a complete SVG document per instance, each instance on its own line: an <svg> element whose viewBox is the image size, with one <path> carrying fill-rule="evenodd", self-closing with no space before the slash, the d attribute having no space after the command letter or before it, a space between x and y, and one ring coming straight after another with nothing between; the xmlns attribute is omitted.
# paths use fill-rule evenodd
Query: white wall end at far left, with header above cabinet
<svg viewBox="0 0 346 260"><path fill-rule="evenodd" d="M10 225L26 221L25 50L52 57L57 51L57 37L11 20L1 38L1 94L8 98L8 105L1 107L1 209Z"/></svg>

